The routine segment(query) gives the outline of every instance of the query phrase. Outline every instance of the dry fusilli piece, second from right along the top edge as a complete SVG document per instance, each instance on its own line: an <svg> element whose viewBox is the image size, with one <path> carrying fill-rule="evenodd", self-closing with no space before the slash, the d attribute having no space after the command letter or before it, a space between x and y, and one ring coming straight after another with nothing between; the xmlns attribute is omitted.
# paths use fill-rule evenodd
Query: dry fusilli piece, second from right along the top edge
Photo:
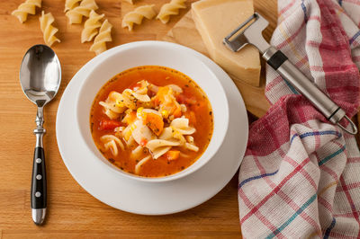
<svg viewBox="0 0 360 239"><path fill-rule="evenodd" d="M134 23L141 24L142 19L145 17L147 19L152 19L157 13L155 13L154 4L142 5L136 8L130 13L126 13L122 18L121 27L128 28L129 31L132 31Z"/></svg>

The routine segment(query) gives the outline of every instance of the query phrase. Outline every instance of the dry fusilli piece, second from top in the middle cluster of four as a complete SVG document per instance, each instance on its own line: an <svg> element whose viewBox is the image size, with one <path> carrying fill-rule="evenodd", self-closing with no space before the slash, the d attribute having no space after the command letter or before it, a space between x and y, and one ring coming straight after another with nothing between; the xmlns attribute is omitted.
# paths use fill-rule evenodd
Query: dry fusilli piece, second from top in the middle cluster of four
<svg viewBox="0 0 360 239"><path fill-rule="evenodd" d="M68 21L70 24L83 22L83 16L88 17L91 10L96 10L99 7L94 0L83 0L75 8L67 11Z"/></svg>

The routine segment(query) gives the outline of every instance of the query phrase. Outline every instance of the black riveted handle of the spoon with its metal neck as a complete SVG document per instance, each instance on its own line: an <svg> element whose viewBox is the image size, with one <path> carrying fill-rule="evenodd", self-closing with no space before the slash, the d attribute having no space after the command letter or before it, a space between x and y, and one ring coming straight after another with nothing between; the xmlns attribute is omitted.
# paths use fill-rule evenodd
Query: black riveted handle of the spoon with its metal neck
<svg viewBox="0 0 360 239"><path fill-rule="evenodd" d="M43 107L38 107L35 122L37 128L33 131L36 136L36 146L32 164L31 210L32 220L36 225L41 225L45 219L47 207L45 154L42 146L42 137L46 132L45 128L42 128Z"/></svg>

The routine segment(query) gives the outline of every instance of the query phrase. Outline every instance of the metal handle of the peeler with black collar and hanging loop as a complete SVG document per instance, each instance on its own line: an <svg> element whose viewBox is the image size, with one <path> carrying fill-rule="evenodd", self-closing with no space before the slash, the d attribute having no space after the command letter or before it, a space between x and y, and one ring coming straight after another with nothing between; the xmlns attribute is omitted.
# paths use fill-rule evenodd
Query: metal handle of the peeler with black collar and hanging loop
<svg viewBox="0 0 360 239"><path fill-rule="evenodd" d="M293 66L288 58L275 47L270 47L263 55L267 64L272 66L284 79L292 84L293 87L302 93L324 116L332 123L338 124L349 134L356 135L356 125L347 118L346 112L333 102L326 93L323 93L316 84L313 84L302 72ZM340 124L340 120L345 118L350 122L352 131L347 130Z"/></svg>

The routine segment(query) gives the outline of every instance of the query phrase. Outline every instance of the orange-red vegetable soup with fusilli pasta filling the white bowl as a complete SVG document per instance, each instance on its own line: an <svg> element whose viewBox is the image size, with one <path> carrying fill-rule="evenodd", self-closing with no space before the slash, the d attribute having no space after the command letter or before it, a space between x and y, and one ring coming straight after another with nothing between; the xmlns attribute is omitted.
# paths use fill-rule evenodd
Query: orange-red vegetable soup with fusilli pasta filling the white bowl
<svg viewBox="0 0 360 239"><path fill-rule="evenodd" d="M163 177L193 164L209 145L211 104L188 76L164 66L130 68L97 93L95 145L127 173Z"/></svg>

